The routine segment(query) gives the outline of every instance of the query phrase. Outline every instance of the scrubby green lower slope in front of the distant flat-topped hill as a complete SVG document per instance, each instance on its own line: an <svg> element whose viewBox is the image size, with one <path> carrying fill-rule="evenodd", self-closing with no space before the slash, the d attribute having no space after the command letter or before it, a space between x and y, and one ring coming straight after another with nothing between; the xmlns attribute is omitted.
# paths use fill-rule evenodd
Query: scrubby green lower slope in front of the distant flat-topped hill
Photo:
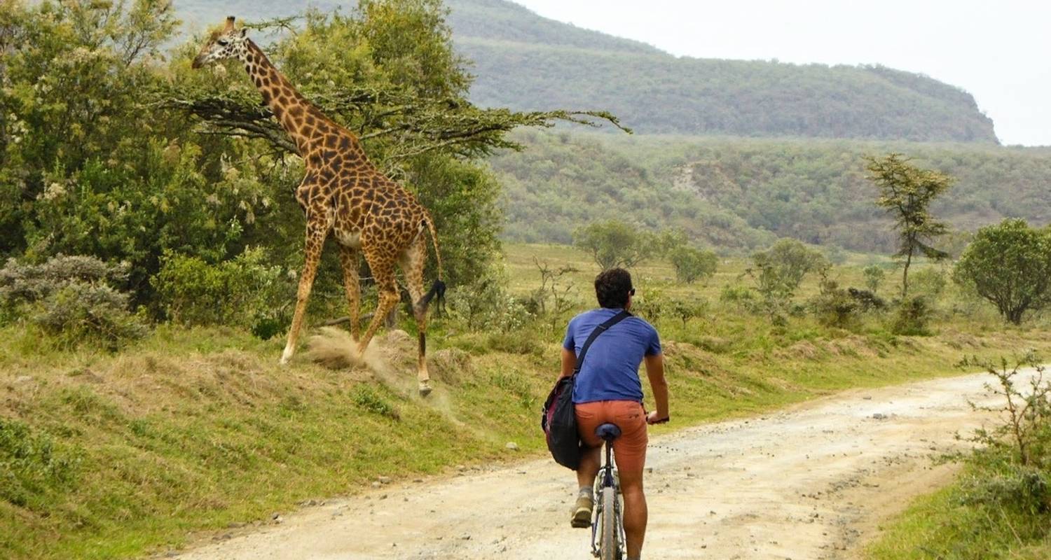
<svg viewBox="0 0 1051 560"><path fill-rule="evenodd" d="M887 251L890 222L875 208L865 155L902 151L959 182L933 211L962 231L1022 216L1051 222L1051 149L848 140L612 134L518 136L528 149L491 160L506 186L507 235L560 242L597 219L681 227L724 248L776 236Z"/></svg>

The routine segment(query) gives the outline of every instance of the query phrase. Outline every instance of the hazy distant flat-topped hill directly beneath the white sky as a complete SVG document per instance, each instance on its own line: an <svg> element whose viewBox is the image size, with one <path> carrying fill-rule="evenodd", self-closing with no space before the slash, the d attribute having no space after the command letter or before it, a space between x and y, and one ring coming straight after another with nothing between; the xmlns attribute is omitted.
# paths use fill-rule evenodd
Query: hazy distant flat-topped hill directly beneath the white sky
<svg viewBox="0 0 1051 560"><path fill-rule="evenodd" d="M650 45L549 20L506 0L447 0L472 101L513 109L613 111L639 132L996 143L960 88L869 66L676 58ZM189 28L351 1L176 0Z"/></svg>

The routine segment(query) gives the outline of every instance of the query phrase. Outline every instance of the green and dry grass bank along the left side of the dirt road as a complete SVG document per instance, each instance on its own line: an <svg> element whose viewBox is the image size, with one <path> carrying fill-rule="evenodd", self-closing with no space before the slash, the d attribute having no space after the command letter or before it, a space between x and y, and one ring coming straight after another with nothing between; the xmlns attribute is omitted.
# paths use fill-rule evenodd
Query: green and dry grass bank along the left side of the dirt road
<svg viewBox="0 0 1051 560"><path fill-rule="evenodd" d="M576 308L511 332L434 320L437 389L428 400L414 395L411 336L392 337L391 371L373 375L302 356L282 368L282 340L233 329L160 327L118 354L61 351L27 328L0 329L0 463L17 462L0 470L0 557L135 557L230 523L266 522L304 500L352 494L377 476L541 457L537 413L557 373L561 329L590 306L595 271L569 248L512 246L515 294L539 284L533 254L582 269ZM655 319L674 428L960 373L952 364L964 353L1051 347L1039 325L1006 329L985 311L943 311L931 337L889 335L879 318L856 331L807 317L774 328L718 303L721 285L738 282L743 262L728 261L707 285L691 287L671 283L664 264L637 271L643 297L659 289L712 302L686 325ZM860 277L859 270L840 273Z"/></svg>

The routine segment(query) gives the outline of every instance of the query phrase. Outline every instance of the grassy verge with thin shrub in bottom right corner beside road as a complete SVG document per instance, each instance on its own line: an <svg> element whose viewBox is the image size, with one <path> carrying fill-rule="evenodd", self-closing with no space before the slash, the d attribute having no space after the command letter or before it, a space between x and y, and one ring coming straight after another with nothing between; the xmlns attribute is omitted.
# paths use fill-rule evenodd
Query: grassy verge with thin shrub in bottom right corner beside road
<svg viewBox="0 0 1051 560"><path fill-rule="evenodd" d="M997 423L974 433L982 445L962 458L953 483L881 527L867 547L869 558L1051 557L1051 385L1040 374L1014 380L1014 372L990 369L997 378L990 385L1004 401L984 410L995 411Z"/></svg>

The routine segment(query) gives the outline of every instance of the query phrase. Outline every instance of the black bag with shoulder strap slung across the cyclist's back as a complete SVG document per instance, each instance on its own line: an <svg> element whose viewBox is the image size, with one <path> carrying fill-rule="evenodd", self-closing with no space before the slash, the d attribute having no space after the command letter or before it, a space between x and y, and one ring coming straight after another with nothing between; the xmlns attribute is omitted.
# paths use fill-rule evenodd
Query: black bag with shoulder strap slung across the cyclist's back
<svg viewBox="0 0 1051 560"><path fill-rule="evenodd" d="M580 348L580 355L577 356L577 366L573 369L573 375L562 377L555 382L555 388L551 390L548 399L543 402L543 413L540 415L540 429L543 430L548 439L548 450L555 462L574 471L580 466L580 434L577 432L577 413L573 405L573 386L577 381L577 374L580 373L580 366L584 362L588 349L598 335L602 334L610 327L632 316L627 311L621 311L610 317L609 320L595 327L584 346Z"/></svg>

